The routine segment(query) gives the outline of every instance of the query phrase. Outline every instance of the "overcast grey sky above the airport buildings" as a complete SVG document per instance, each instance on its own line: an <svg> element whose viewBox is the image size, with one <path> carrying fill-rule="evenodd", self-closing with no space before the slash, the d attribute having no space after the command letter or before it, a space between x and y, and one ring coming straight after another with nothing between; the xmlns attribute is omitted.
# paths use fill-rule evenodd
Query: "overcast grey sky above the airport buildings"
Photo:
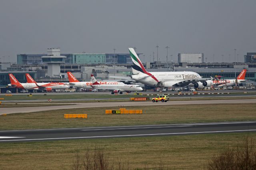
<svg viewBox="0 0 256 170"><path fill-rule="evenodd" d="M128 53L136 45L152 60L182 52L207 61L243 61L256 51L256 0L2 0L0 61L17 53ZM5 56L5 57L2 57ZM170 57L169 57L170 58ZM143 57L142 57L143 60ZM169 59L170 60L170 59Z"/></svg>

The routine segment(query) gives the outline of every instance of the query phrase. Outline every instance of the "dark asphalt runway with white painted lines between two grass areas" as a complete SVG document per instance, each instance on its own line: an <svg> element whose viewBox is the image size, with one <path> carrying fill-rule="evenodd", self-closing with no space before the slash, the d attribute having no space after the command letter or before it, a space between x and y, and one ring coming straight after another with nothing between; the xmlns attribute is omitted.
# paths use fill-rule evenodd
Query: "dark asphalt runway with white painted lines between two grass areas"
<svg viewBox="0 0 256 170"><path fill-rule="evenodd" d="M255 131L256 121L122 127L57 128L38 130L3 130L0 131L0 142L34 142L47 140L169 136Z"/></svg>

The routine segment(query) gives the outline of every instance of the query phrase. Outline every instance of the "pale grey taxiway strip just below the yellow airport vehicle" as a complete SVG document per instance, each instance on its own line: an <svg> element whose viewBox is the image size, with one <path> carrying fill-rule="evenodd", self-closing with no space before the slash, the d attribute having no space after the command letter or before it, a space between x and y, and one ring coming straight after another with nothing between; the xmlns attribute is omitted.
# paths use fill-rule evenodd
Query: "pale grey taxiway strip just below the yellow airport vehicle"
<svg viewBox="0 0 256 170"><path fill-rule="evenodd" d="M89 107L118 107L118 106L161 106L161 105L203 105L203 104L238 104L238 103L256 103L256 99L234 99L234 100L200 100L200 101L168 101L168 102L105 102L105 103L68 103L74 105L66 106L48 106L48 107L13 107L1 108L0 115L11 113L30 113L38 111L50 111L58 109L76 109Z"/></svg>

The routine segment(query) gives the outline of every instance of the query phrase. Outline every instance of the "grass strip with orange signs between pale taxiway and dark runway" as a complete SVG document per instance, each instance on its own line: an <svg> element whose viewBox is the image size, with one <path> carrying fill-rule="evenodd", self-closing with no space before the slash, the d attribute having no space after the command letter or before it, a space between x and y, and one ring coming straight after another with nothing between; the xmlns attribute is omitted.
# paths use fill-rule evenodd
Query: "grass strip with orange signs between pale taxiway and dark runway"
<svg viewBox="0 0 256 170"><path fill-rule="evenodd" d="M143 114L105 115L105 110L111 109L119 108L78 108L75 112L74 109L63 109L10 114L0 116L0 130L256 120L255 104L131 106L126 109L142 109ZM88 114L88 119L64 119L64 114L72 113Z"/></svg>

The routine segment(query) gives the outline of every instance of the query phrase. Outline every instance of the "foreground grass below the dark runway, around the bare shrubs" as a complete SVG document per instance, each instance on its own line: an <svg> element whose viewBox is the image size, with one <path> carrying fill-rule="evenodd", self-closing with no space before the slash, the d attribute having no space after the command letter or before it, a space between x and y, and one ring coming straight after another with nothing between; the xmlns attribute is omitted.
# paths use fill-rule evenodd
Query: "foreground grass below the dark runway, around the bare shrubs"
<svg viewBox="0 0 256 170"><path fill-rule="evenodd" d="M236 147L244 136L256 133L222 133L138 138L59 140L0 144L0 169L71 170L76 153L104 149L110 164L120 160L130 169L205 169L208 161L226 147Z"/></svg>

